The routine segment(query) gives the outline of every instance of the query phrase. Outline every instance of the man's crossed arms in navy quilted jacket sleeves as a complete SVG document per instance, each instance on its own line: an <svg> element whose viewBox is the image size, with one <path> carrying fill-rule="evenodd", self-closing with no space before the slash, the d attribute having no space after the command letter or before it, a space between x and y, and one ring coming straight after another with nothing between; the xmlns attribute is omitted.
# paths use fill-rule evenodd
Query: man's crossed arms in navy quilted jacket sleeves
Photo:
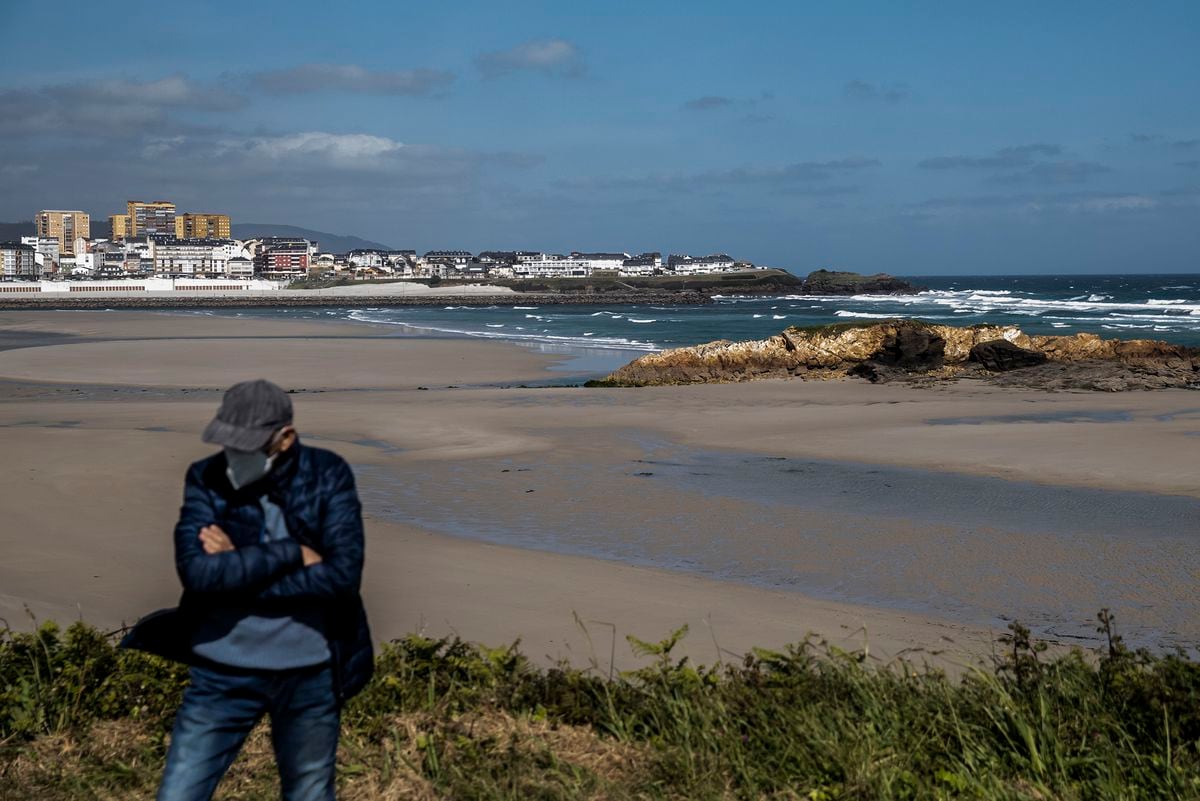
<svg viewBox="0 0 1200 801"><path fill-rule="evenodd" d="M294 540L234 547L218 525L197 468L188 470L175 525L175 566L184 589L263 600L338 598L358 594L362 577L362 510L344 463L322 516L324 554Z"/></svg>

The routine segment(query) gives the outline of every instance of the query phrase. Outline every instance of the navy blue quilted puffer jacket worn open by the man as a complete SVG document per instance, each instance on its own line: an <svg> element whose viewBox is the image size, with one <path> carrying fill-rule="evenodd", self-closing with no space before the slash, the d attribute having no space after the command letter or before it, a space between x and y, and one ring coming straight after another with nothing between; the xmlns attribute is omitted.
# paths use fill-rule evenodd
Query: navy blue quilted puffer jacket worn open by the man
<svg viewBox="0 0 1200 801"><path fill-rule="evenodd" d="M268 498L283 510L290 540L262 542ZM199 531L216 523L235 549L205 554ZM322 555L304 567L300 544ZM335 692L342 701L362 688L374 669L362 578L362 507L354 474L336 453L296 442L262 481L235 490L226 477L224 453L187 470L184 505L175 525L175 568L184 584L178 609L148 615L122 640L181 662L191 652L197 621L211 610L298 610L324 615L332 655Z"/></svg>

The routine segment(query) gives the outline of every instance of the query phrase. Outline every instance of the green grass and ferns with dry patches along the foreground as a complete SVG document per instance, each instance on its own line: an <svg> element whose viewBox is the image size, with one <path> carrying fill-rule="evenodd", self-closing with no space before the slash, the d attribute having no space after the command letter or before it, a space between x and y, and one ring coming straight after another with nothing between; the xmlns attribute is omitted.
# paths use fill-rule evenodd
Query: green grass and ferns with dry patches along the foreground
<svg viewBox="0 0 1200 801"><path fill-rule="evenodd" d="M538 668L516 646L410 636L346 709L343 799L1200 797L1200 664L1048 658L1019 625L952 679L809 640L692 666ZM185 682L83 625L0 642L0 797L149 799ZM277 794L252 736L224 796Z"/></svg>

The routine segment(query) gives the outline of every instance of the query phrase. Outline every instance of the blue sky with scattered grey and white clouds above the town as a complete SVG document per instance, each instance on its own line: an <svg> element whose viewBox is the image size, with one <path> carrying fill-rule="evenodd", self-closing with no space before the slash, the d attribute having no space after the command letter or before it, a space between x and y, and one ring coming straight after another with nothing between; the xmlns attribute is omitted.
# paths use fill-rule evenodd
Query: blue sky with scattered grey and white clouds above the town
<svg viewBox="0 0 1200 801"><path fill-rule="evenodd" d="M0 4L0 219L1200 272L1198 2L62 8Z"/></svg>

